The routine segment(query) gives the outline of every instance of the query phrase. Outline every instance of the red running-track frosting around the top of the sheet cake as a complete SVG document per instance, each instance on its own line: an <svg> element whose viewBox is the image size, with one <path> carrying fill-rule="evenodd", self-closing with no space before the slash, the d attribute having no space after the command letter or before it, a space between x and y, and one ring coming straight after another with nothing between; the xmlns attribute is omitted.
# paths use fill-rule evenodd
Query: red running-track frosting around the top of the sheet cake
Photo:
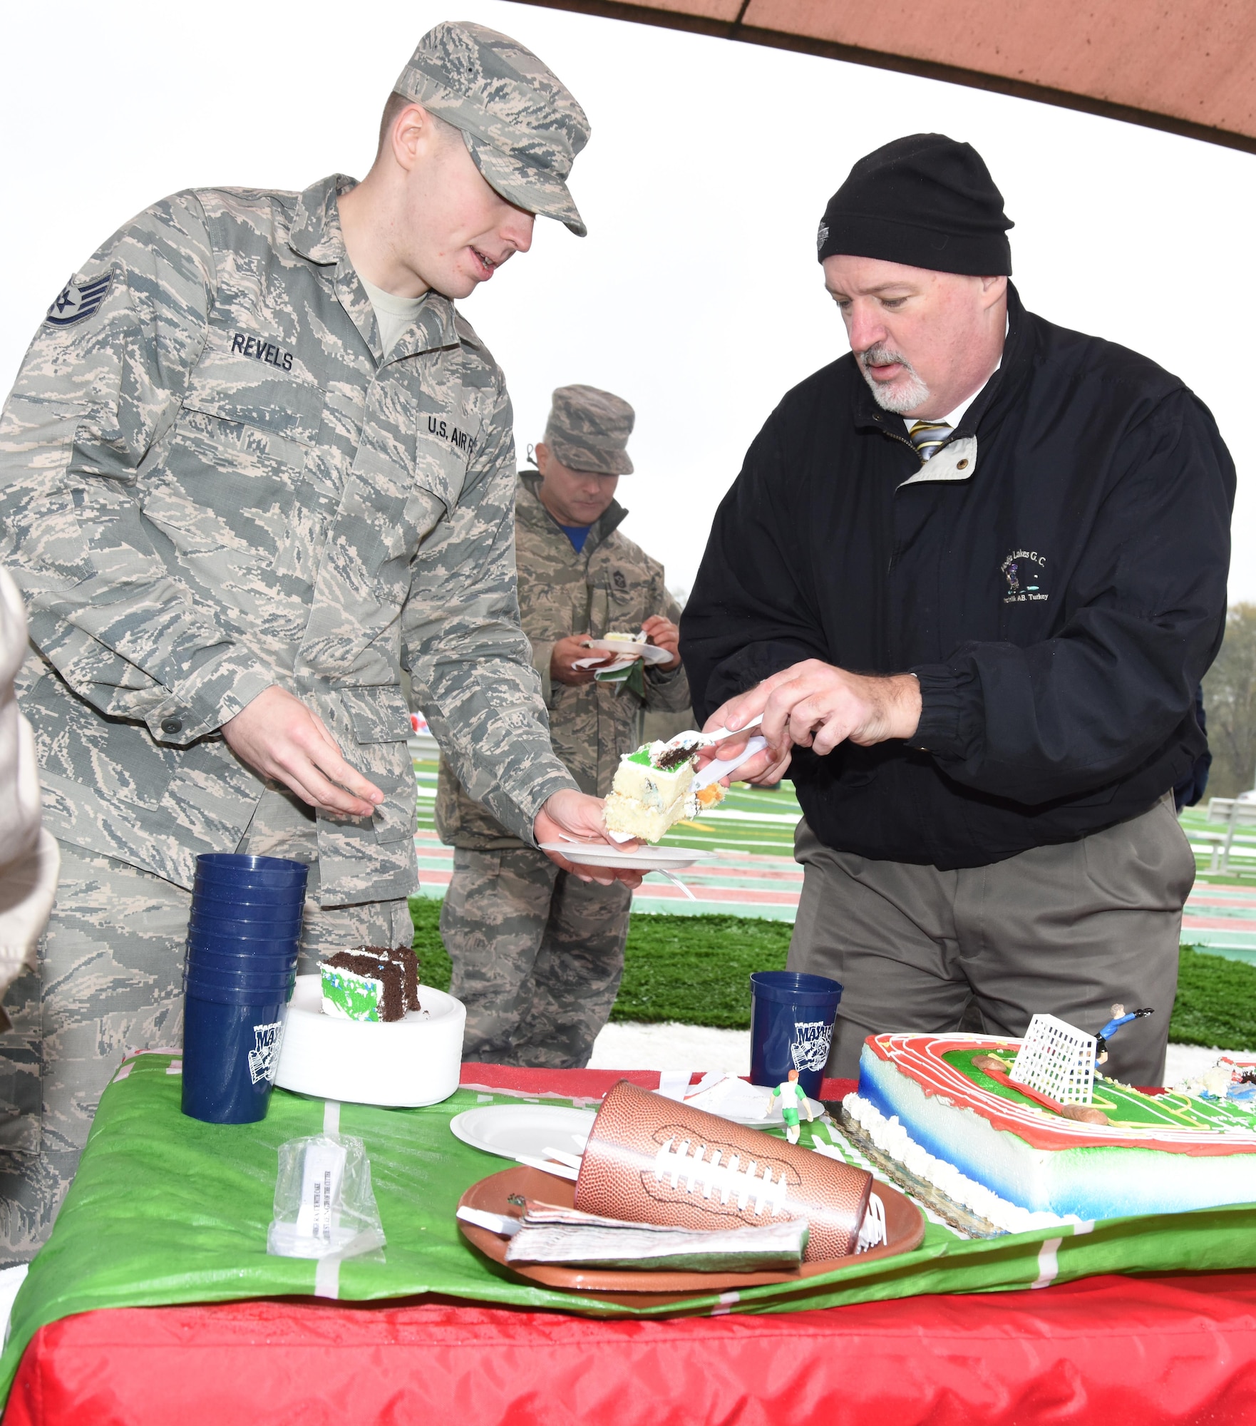
<svg viewBox="0 0 1256 1426"><path fill-rule="evenodd" d="M870 1035L868 1047L878 1060L892 1064L914 1079L928 1095L974 1109L997 1129L1015 1134L1036 1149L1145 1148L1162 1154L1189 1154L1196 1158L1230 1154L1256 1154L1256 1131L1189 1129L1175 1125L1122 1129L1111 1124L1079 1124L1056 1119L1031 1104L1012 1104L989 1089L982 1089L942 1058L951 1050L1018 1050L1018 1040L994 1035ZM1149 1104L1155 1101L1148 1098Z"/></svg>

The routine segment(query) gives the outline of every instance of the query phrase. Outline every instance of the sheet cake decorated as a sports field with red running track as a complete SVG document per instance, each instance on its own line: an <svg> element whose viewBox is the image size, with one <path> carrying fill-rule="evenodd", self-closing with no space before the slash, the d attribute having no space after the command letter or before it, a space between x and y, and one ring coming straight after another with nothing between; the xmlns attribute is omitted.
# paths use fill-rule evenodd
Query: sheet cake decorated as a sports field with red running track
<svg viewBox="0 0 1256 1426"><path fill-rule="evenodd" d="M1019 1047L870 1035L843 1108L891 1159L1011 1232L1256 1202L1249 1065L1223 1061L1212 1089L1199 1081L1156 1095L1096 1074L1088 1105L1052 1108L1011 1081Z"/></svg>

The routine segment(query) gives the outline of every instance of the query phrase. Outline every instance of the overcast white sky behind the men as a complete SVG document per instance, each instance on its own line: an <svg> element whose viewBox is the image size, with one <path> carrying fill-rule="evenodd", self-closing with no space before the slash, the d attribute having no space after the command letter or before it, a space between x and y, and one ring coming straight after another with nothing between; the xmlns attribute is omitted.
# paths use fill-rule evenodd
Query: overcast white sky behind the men
<svg viewBox="0 0 1256 1426"><path fill-rule="evenodd" d="M0 385L70 272L177 188L358 177L419 36L472 19L536 50L593 123L572 188L585 240L537 221L466 312L506 369L520 459L549 392L637 409L626 533L687 586L711 512L780 396L845 349L815 225L861 154L972 143L1015 220L1026 305L1182 375L1239 466L1232 599L1256 600L1256 463L1240 448L1256 329L1249 154L831 60L465 0L41 0L6 13Z"/></svg>

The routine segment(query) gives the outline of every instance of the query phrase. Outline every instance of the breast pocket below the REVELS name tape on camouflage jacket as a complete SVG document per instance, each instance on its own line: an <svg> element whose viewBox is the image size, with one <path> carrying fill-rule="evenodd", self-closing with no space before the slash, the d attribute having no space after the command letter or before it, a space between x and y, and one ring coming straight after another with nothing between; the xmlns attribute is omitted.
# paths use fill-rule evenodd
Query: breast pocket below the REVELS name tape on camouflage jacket
<svg viewBox="0 0 1256 1426"><path fill-rule="evenodd" d="M184 555L225 549L274 560L322 408L324 392L309 382L230 381L221 364L214 381L194 375L144 513Z"/></svg>

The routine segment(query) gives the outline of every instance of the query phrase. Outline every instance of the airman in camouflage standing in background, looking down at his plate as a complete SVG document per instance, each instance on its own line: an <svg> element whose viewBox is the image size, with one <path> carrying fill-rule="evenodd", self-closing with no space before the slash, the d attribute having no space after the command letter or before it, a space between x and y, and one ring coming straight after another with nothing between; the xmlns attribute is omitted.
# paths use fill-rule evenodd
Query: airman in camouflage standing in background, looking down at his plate
<svg viewBox="0 0 1256 1426"><path fill-rule="evenodd" d="M550 737L580 787L596 796L610 791L620 756L639 746L646 709L689 706L674 642L680 609L663 566L619 533L627 511L613 492L617 476L633 469L624 449L632 426L633 409L619 396L559 388L537 446L542 473L520 476L515 503L519 610ZM600 513L577 549L585 488L589 513ZM573 672L579 655L597 657L582 642L642 627L674 656L644 672L643 694L594 682L593 670ZM445 760L436 826L455 847L441 934L453 960L451 988L466 1005L465 1057L586 1064L623 974L629 890L587 886L560 871L469 796Z"/></svg>

